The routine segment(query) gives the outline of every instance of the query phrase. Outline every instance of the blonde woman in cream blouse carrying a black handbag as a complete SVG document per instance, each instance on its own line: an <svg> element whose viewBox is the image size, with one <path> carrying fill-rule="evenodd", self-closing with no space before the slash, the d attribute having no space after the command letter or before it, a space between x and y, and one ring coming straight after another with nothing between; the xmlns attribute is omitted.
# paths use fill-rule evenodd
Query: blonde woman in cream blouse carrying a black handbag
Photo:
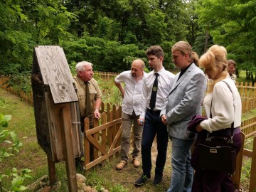
<svg viewBox="0 0 256 192"><path fill-rule="evenodd" d="M204 53L199 65L204 68L206 75L213 80L206 97L203 99L207 119L196 125L199 132L197 142L206 139L206 135L228 136L232 134L238 154L241 147L240 124L242 115L241 98L237 87L228 75L227 51L223 46L214 45ZM230 100L233 98L233 100ZM208 171L196 167L196 153L193 151L191 164L195 169L192 191L196 192L233 192L233 181L230 174L224 171Z"/></svg>

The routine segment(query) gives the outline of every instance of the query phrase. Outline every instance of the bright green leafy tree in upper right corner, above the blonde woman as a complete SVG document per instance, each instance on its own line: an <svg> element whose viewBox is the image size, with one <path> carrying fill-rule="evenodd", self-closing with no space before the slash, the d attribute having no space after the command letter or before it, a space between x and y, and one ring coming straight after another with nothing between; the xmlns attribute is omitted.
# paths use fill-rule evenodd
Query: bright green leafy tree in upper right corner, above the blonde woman
<svg viewBox="0 0 256 192"><path fill-rule="evenodd" d="M238 68L256 71L256 1L198 0L198 21L206 28L209 23L213 42L228 49L229 58ZM255 79L252 76L252 81Z"/></svg>

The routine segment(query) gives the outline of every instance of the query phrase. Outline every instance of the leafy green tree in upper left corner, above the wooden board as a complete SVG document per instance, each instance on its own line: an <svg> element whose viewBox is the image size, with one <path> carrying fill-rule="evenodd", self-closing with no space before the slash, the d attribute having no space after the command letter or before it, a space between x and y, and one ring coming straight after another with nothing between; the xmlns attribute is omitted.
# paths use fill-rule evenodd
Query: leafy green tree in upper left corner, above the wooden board
<svg viewBox="0 0 256 192"><path fill-rule="evenodd" d="M33 46L70 38L70 18L59 0L0 2L1 73L31 72Z"/></svg>

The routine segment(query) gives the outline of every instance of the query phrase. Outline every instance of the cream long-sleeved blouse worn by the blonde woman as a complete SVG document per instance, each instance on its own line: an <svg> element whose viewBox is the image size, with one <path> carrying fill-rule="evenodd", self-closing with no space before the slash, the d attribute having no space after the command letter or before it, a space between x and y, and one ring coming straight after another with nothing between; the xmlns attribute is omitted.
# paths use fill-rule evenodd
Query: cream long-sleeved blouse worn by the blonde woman
<svg viewBox="0 0 256 192"><path fill-rule="evenodd" d="M208 119L200 123L203 129L208 132L218 131L220 129L230 128L234 122L234 128L239 127L242 118L242 102L237 87L229 77L224 79L228 82L230 89L225 82L217 82L213 87L213 92L206 95L203 99L203 107ZM212 118L210 118L210 104Z"/></svg>

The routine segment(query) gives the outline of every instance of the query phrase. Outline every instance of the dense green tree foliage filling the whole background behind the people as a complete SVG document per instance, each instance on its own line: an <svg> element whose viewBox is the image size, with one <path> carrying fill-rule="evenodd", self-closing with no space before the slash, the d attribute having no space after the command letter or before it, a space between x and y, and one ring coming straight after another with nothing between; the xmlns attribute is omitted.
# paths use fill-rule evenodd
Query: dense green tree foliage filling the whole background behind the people
<svg viewBox="0 0 256 192"><path fill-rule="evenodd" d="M127 70L134 58L160 45L174 68L171 46L188 41L201 55L213 43L255 73L256 1L30 0L0 1L0 73L31 71L33 47L58 45L70 68L81 60L96 70ZM254 79L252 79L254 80Z"/></svg>

